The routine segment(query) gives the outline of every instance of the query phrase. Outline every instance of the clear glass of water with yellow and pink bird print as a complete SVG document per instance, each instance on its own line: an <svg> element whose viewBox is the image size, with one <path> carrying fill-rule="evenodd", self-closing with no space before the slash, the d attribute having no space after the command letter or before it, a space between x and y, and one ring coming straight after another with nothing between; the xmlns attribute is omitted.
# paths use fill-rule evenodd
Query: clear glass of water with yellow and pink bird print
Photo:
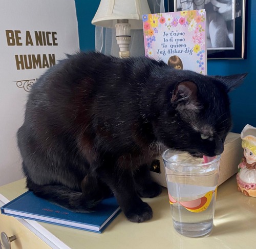
<svg viewBox="0 0 256 249"><path fill-rule="evenodd" d="M171 149L163 153L170 209L175 230L188 237L213 228L221 155L203 159Z"/></svg>

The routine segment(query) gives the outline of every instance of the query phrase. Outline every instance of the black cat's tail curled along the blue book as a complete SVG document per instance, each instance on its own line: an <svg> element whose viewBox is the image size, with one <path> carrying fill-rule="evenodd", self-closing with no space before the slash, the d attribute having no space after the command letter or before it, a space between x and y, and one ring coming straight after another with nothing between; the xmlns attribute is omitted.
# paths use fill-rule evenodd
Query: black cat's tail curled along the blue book
<svg viewBox="0 0 256 249"><path fill-rule="evenodd" d="M86 199L82 192L71 190L62 185L37 185L29 178L27 178L27 188L33 191L36 196L47 199L74 212L92 212L93 208L102 199Z"/></svg>

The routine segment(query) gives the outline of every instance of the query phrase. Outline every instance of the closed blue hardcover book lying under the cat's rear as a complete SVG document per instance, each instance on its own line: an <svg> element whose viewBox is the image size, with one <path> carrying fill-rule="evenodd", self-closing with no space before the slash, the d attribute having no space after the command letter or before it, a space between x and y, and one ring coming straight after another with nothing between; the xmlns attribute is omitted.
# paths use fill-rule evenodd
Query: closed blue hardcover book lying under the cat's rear
<svg viewBox="0 0 256 249"><path fill-rule="evenodd" d="M114 196L103 199L95 211L76 213L27 191L1 207L1 213L101 233L121 212Z"/></svg>

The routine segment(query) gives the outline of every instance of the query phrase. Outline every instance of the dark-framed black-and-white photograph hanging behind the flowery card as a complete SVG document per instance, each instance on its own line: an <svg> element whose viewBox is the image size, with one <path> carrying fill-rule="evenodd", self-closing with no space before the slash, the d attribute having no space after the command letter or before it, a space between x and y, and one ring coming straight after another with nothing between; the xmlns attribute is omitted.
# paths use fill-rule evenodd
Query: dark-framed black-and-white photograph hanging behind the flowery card
<svg viewBox="0 0 256 249"><path fill-rule="evenodd" d="M168 11L206 10L207 58L245 58L246 0L168 0Z"/></svg>

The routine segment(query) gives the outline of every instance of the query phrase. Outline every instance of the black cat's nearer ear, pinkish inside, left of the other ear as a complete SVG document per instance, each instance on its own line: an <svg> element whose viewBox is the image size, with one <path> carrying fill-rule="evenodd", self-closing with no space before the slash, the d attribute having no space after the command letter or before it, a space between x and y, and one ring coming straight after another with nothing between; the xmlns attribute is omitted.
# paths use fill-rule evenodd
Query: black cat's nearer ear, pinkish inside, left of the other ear
<svg viewBox="0 0 256 249"><path fill-rule="evenodd" d="M182 81L175 86L170 100L173 104L182 104L183 108L197 109L197 85L191 81Z"/></svg>

